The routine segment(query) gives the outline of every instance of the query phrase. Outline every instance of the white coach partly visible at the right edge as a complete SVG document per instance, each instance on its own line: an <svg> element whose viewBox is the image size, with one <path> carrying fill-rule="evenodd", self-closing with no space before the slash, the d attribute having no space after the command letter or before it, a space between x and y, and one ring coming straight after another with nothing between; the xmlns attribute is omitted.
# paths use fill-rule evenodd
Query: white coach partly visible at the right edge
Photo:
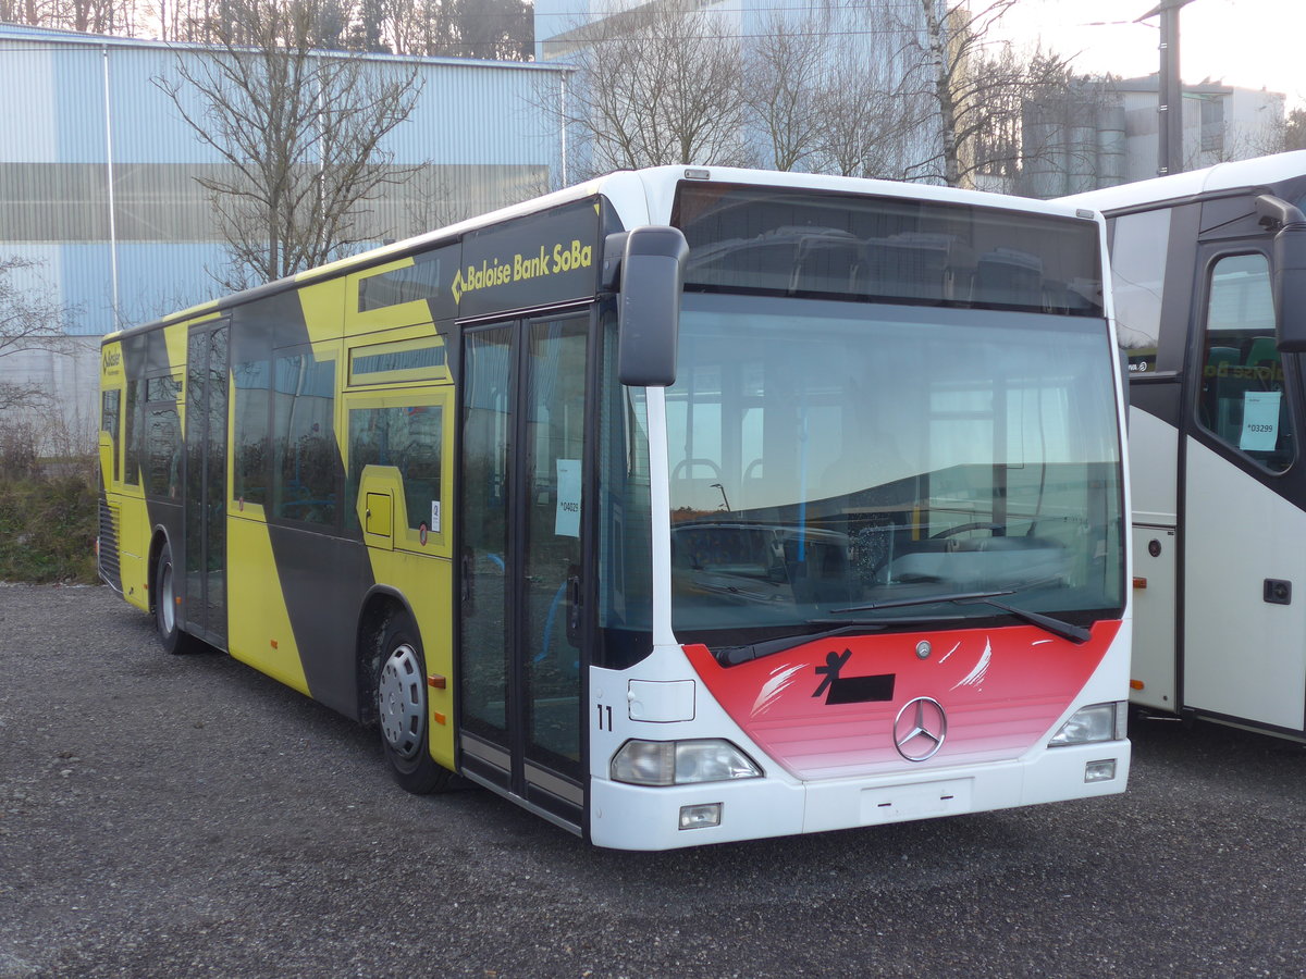
<svg viewBox="0 0 1306 979"><path fill-rule="evenodd" d="M1062 202L1128 359L1132 701L1306 740L1306 151Z"/></svg>

